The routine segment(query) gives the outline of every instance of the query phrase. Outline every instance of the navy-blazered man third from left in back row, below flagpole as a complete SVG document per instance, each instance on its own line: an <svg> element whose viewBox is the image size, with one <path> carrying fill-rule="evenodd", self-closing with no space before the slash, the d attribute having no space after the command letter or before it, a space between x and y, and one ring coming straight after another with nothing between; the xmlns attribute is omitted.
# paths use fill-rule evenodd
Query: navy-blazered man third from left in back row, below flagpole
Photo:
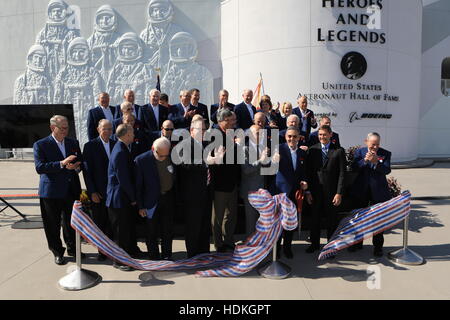
<svg viewBox="0 0 450 320"><path fill-rule="evenodd" d="M150 91L150 103L139 108L138 118L147 135L161 135L161 126L169 116L169 110L159 104L161 93L157 89Z"/></svg>

